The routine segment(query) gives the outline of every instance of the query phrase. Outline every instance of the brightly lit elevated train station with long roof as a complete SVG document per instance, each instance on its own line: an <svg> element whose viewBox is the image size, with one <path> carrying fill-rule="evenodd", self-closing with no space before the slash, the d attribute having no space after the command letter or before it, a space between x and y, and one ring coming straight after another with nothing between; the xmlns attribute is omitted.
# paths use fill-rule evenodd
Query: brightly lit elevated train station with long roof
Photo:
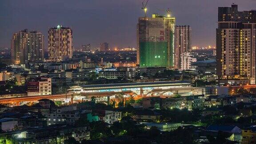
<svg viewBox="0 0 256 144"><path fill-rule="evenodd" d="M193 87L184 81L158 81L127 84L95 84L83 85L80 88L71 88L69 93L80 93L81 96L172 96L176 93L181 96L190 96Z"/></svg>

